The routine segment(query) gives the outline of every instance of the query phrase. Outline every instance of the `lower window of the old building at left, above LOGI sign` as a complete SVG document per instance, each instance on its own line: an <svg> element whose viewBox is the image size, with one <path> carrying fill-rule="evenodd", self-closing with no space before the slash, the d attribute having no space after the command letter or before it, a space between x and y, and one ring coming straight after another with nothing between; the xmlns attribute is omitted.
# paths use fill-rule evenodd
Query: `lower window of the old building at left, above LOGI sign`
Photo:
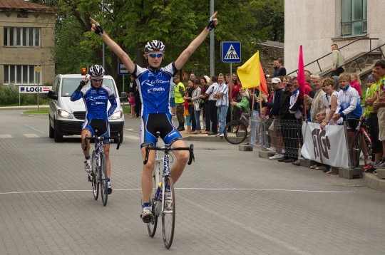
<svg viewBox="0 0 385 255"><path fill-rule="evenodd" d="M4 84L29 84L40 83L41 72L36 73L36 66L4 65Z"/></svg>

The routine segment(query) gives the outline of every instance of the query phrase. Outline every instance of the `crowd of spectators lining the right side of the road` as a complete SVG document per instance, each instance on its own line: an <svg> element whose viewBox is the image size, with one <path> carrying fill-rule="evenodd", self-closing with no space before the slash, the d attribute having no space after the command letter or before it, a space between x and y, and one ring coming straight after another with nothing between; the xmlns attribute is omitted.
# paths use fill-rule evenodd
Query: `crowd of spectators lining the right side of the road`
<svg viewBox="0 0 385 255"><path fill-rule="evenodd" d="M348 147L353 145L354 130L359 122L366 121L371 137L369 155L364 140L362 152L369 162L366 172L385 167L385 61L377 61L366 79L366 88L356 73L344 71L343 57L338 46L332 45L332 76L323 78L305 70L303 96L297 77L286 76L282 60L274 60L274 74L265 73L268 93L242 88L237 73L202 76L190 74L187 83L174 77L170 107L178 118L178 131L197 135L222 137L225 125L237 120L242 113L250 113L249 145L269 145L274 152L270 160L299 165L299 146L302 145L302 122L348 127ZM364 93L363 93L364 92ZM135 88L133 88L135 95ZM135 97L136 98L136 97ZM140 105L135 104L135 108ZM362 107L361 107L362 106ZM138 111L135 113L138 116ZM267 125L267 136L262 135L262 125ZM187 127L187 130L185 130ZM352 132L353 131L353 132ZM330 166L317 163L311 168L330 172Z"/></svg>

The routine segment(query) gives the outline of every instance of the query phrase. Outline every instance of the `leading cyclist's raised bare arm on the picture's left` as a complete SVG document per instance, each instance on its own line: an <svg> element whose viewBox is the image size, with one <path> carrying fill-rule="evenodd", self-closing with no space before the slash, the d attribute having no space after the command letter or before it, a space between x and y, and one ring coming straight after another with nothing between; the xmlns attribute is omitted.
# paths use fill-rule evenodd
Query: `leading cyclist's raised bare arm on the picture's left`
<svg viewBox="0 0 385 255"><path fill-rule="evenodd" d="M122 50L122 48L120 48L120 46L118 46L118 43L113 41L113 39L111 39L108 36L108 34L103 31L103 28L101 28L101 26L98 24L97 21L95 21L91 17L90 17L90 21L92 22L91 30L93 32L95 32L98 36L101 36L101 38L107 44L107 46L110 47L111 50L113 50L113 52L116 53L116 56L118 56L118 58L120 58L120 61L122 61L124 63L125 68L127 68L127 70L130 73L133 73L133 71L135 69L135 64L133 63L131 58L127 55L127 53L125 53Z"/></svg>

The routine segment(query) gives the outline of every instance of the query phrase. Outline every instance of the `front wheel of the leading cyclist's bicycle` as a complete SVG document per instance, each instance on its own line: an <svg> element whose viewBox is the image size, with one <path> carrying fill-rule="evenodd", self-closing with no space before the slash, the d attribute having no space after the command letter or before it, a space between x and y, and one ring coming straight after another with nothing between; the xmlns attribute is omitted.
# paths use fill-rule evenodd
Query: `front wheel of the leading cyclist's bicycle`
<svg viewBox="0 0 385 255"><path fill-rule="evenodd" d="M163 234L163 243L165 244L166 249L170 249L171 244L173 244L174 238L174 229L175 229L175 193L174 193L174 183L171 177L165 177L165 189L170 188L168 194L164 194L162 199L162 234ZM168 197L166 201L166 196Z"/></svg>

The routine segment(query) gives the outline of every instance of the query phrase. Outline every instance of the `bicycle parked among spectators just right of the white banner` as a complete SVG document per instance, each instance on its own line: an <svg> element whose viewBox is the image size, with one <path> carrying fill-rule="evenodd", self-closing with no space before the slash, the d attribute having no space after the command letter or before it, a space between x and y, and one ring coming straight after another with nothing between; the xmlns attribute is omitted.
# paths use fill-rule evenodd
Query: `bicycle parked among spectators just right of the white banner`
<svg viewBox="0 0 385 255"><path fill-rule="evenodd" d="M354 140L353 140L353 148L351 150L351 166L353 168L359 166L359 159L361 155L361 150L366 145L366 155L364 155L364 165L369 164L368 157L371 155L371 139L368 134L366 120L359 120L359 123L354 130ZM364 139L363 139L364 138ZM361 145L361 142L365 142L365 145ZM364 150L363 150L364 152Z"/></svg>

